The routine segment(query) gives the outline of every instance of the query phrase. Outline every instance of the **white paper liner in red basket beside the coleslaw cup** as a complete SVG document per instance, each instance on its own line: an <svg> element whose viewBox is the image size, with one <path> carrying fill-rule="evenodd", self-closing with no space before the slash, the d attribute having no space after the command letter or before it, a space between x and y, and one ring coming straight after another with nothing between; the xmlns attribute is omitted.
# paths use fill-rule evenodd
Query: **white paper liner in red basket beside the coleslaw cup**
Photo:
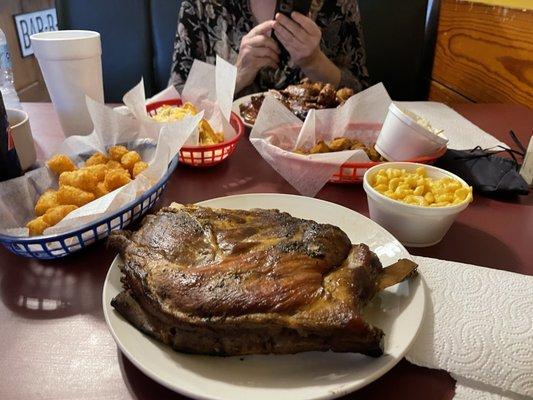
<svg viewBox="0 0 533 400"><path fill-rule="evenodd" d="M347 161L369 162L363 150L301 155L292 151L310 148L317 140L336 137L373 145L387 115L391 99L383 84L352 96L334 109L311 110L305 122L267 94L250 134L259 154L305 196L315 196Z"/></svg>

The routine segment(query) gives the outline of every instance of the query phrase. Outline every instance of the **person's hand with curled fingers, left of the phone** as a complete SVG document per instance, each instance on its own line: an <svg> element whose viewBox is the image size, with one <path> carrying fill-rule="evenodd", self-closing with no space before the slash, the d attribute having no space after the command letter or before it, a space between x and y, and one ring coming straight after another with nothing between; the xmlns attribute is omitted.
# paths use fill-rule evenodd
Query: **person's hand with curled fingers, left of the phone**
<svg viewBox="0 0 533 400"><path fill-rule="evenodd" d="M236 92L250 85L263 67L277 68L279 46L268 34L275 21L265 21L243 36L237 58Z"/></svg>

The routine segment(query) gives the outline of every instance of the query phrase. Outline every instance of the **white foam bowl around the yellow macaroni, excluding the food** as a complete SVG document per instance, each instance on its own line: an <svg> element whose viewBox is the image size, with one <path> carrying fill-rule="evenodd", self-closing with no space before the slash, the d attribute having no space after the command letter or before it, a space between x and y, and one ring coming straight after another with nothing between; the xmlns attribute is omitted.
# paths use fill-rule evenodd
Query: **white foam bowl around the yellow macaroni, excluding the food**
<svg viewBox="0 0 533 400"><path fill-rule="evenodd" d="M409 247L428 247L439 243L450 229L459 213L468 207L469 202L449 207L424 207L392 200L376 191L369 183L372 175L381 169L399 168L413 171L424 167L433 179L449 177L458 180L463 186L468 184L441 168L410 162L389 162L368 169L363 177L363 189L367 194L370 218L392 233L400 242Z"/></svg>

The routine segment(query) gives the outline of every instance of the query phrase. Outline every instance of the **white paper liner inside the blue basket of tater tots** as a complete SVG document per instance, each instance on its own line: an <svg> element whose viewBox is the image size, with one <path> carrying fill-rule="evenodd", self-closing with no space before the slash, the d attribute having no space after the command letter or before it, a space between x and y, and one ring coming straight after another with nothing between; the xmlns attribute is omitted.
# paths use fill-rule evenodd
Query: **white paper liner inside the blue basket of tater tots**
<svg viewBox="0 0 533 400"><path fill-rule="evenodd" d="M135 88L134 88L135 90ZM43 234L68 232L109 215L150 189L167 171L168 164L183 143L196 129L203 113L162 126L139 121L87 98L87 107L94 124L88 136L71 136L52 154L64 153L80 165L96 151L125 144L137 150L149 167L136 179L113 192L96 199L68 214ZM157 128L157 129L156 129ZM85 155L82 157L80 155ZM48 189L57 189L58 177L47 167L41 167L16 179L0 184L0 232L11 236L28 236L26 223L35 218L34 206Z"/></svg>

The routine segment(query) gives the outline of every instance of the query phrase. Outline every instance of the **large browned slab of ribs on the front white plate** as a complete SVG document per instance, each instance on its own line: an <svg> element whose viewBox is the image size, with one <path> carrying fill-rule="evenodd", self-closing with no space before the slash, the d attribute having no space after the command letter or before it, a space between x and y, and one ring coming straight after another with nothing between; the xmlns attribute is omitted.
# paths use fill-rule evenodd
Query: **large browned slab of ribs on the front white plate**
<svg viewBox="0 0 533 400"><path fill-rule="evenodd" d="M173 203L109 240L124 261L113 307L187 353L380 356L383 332L362 308L416 270L409 260L382 268L341 229L278 210Z"/></svg>

